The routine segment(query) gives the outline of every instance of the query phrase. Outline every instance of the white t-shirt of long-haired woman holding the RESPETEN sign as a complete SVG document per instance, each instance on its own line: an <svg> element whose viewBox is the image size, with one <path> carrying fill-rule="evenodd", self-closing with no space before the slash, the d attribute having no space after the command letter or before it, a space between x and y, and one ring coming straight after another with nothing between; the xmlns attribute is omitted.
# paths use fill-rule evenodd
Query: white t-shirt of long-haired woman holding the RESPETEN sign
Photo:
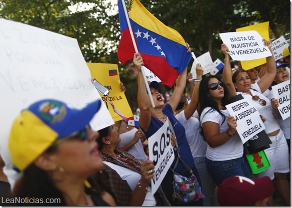
<svg viewBox="0 0 292 208"><path fill-rule="evenodd" d="M210 110L209 112L207 112ZM225 116L229 116L228 110L221 110L221 113ZM223 122L221 125L223 118L222 116L211 107L207 107L203 109L201 116L200 116L201 124L204 122L210 121L217 123L219 125L219 133L224 132L226 129L228 129L227 120ZM232 160L236 158L241 158L243 155L243 144L241 142L241 139L236 132L234 136L232 136L227 142L225 142L223 145L218 147L210 147L207 145L207 151L206 151L206 158L212 161L225 161L225 160Z"/></svg>

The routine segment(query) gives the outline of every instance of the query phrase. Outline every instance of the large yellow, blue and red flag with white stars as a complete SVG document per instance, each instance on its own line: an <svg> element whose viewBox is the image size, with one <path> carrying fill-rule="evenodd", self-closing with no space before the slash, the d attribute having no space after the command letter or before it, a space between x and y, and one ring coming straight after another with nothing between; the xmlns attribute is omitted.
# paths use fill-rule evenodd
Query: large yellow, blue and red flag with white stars
<svg viewBox="0 0 292 208"><path fill-rule="evenodd" d="M171 87L191 59L191 54L186 53L183 37L155 18L139 0L125 2L128 14L124 12L121 1L117 2L121 32L118 60L125 64L133 58L135 52L125 18L128 15L145 67L159 77L163 84Z"/></svg>

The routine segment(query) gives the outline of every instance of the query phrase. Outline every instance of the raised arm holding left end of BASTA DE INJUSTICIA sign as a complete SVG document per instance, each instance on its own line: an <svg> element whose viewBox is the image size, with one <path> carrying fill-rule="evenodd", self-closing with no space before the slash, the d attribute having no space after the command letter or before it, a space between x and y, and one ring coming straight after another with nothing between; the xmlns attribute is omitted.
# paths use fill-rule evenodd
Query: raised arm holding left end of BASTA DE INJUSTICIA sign
<svg viewBox="0 0 292 208"><path fill-rule="evenodd" d="M229 49L226 44L221 44L221 51L224 53L224 68L222 73L222 81L225 85L225 87L228 90L228 96L229 98L236 95L236 90L232 82L232 69L230 65L230 55L228 53Z"/></svg>

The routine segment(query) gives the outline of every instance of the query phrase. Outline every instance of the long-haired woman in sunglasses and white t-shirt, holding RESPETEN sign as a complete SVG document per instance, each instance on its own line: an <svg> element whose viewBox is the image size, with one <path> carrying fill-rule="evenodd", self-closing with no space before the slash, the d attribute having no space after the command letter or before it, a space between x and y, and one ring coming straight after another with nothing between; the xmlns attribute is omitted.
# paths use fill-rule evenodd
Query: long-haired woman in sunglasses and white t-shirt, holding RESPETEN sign
<svg viewBox="0 0 292 208"><path fill-rule="evenodd" d="M236 132L236 120L229 115L227 90L216 76L204 77L199 85L201 133L207 142L206 168L214 183L232 176L251 179Z"/></svg>

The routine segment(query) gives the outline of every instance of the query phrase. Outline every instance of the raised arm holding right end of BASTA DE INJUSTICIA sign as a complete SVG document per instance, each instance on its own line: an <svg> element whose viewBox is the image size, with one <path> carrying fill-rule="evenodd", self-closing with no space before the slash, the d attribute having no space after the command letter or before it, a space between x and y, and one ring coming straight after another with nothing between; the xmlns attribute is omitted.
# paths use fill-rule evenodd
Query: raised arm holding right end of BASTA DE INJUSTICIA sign
<svg viewBox="0 0 292 208"><path fill-rule="evenodd" d="M273 54L271 51L271 41L267 41L265 39L262 39L262 41L263 41L263 44L268 47L271 54ZM271 85L272 81L275 78L276 72L277 70L276 70L275 58L273 57L273 55L266 57L265 74L257 82L261 92L264 92L265 90L269 88L269 86Z"/></svg>

